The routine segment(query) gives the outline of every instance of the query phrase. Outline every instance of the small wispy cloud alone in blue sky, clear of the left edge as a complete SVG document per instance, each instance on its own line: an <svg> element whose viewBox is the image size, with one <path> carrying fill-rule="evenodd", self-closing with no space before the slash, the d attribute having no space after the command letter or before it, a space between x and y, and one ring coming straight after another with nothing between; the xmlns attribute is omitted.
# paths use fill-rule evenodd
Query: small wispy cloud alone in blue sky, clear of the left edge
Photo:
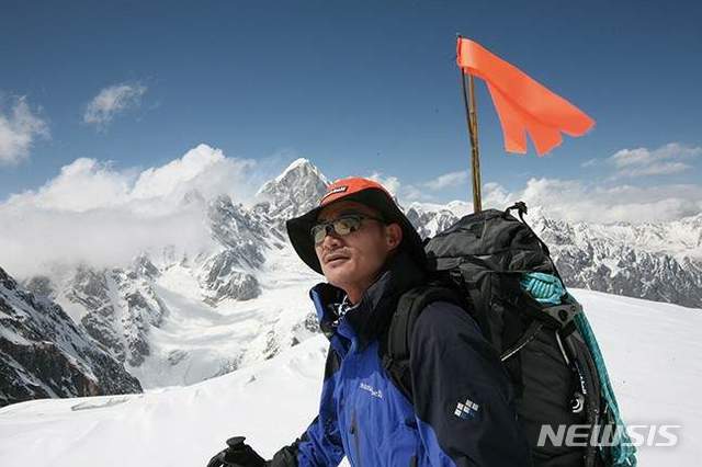
<svg viewBox="0 0 702 467"><path fill-rule="evenodd" d="M104 128L115 115L141 104L147 88L140 83L114 84L102 89L86 106L83 122Z"/></svg>

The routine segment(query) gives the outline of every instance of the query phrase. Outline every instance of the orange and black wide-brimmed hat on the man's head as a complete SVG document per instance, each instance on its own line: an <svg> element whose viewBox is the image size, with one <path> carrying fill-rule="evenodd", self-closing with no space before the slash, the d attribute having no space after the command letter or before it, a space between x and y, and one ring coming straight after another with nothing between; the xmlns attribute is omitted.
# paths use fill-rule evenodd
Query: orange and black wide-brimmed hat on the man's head
<svg viewBox="0 0 702 467"><path fill-rule="evenodd" d="M424 266L427 257L421 238L409 219L393 201L393 196L388 191L373 180L352 176L331 183L327 186L327 192L319 200L317 207L285 223L290 241L299 258L309 267L322 274L321 265L315 252L315 241L310 232L317 221L317 216L325 206L341 200L354 201L372 207L381 213L383 220L386 223L399 224L403 229L403 241L399 244L399 249L407 251L418 265Z"/></svg>

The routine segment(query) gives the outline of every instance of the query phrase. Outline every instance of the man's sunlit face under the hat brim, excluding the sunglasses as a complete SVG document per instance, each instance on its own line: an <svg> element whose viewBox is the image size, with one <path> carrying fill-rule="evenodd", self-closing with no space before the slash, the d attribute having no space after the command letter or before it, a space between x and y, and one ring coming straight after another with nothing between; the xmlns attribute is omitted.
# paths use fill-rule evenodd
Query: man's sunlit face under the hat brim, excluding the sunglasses
<svg viewBox="0 0 702 467"><path fill-rule="evenodd" d="M325 207L317 216L317 221L333 220L349 214L381 217L375 209L363 204L340 201ZM355 303L375 281L389 252L401 241L401 228L397 224L385 225L364 218L358 230L346 236L330 230L315 246L321 271L330 284L344 289Z"/></svg>

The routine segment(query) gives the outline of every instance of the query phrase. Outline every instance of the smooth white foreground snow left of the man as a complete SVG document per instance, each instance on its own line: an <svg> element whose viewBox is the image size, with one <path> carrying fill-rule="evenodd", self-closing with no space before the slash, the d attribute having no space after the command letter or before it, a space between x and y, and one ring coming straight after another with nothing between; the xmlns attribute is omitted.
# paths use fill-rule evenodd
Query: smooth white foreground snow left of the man
<svg viewBox="0 0 702 467"><path fill-rule="evenodd" d="M0 411L3 467L205 465L247 435L270 456L312 421L326 354L317 337L269 362L144 395L36 400Z"/></svg>

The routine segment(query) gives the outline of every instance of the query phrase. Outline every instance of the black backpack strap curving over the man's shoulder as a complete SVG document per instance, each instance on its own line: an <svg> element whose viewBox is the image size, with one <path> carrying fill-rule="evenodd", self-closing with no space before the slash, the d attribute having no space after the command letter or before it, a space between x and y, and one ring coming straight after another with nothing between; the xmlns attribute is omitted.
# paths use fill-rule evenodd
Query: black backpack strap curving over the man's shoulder
<svg viewBox="0 0 702 467"><path fill-rule="evenodd" d="M409 346L415 322L428 305L433 301L449 301L461 307L465 303L460 295L438 284L415 287L403 294L384 339L383 366L397 388L411 401L412 387L409 372Z"/></svg>

